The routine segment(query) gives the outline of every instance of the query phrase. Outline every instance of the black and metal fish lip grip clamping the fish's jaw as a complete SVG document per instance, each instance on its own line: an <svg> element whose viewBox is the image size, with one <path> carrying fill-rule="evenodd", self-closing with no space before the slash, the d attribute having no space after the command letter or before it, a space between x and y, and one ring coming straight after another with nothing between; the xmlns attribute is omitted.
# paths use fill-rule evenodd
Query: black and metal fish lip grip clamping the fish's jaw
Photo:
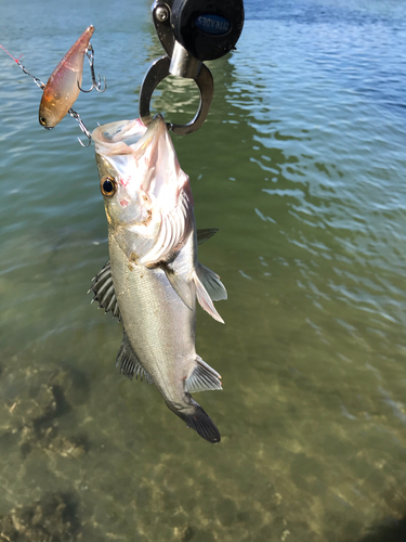
<svg viewBox="0 0 406 542"><path fill-rule="evenodd" d="M140 92L140 118L147 126L156 87L169 75L193 79L200 92L196 116L187 125L168 124L180 136L204 124L213 98L213 77L204 61L224 56L237 42L244 25L243 0L155 0L153 21L166 55L148 69Z"/></svg>

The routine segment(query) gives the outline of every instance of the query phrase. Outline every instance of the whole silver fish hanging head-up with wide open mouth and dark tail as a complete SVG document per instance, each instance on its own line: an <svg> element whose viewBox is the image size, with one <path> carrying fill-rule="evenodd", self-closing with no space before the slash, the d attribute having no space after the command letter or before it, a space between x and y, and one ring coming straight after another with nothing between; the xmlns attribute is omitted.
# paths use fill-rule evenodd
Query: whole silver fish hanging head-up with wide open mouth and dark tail
<svg viewBox="0 0 406 542"><path fill-rule="evenodd" d="M209 442L220 433L191 393L221 388L196 353L196 297L223 322L212 300L226 299L219 275L201 266L189 179L161 116L96 128L96 163L108 221L109 262L93 279L100 305L123 324L117 364L154 383L168 408Z"/></svg>

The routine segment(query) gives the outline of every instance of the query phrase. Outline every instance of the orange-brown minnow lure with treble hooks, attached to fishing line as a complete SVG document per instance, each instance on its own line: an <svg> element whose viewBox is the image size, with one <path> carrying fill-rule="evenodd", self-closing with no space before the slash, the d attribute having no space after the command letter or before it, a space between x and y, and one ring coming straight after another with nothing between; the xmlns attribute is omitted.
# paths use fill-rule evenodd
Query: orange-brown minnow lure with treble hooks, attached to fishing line
<svg viewBox="0 0 406 542"><path fill-rule="evenodd" d="M47 85L38 79L38 77L35 77L32 74L30 74L25 68L25 66L23 66L19 60L15 59L12 54L9 53L9 51L0 46L0 48L3 49L18 64L23 72L32 77L36 85L43 90L41 103L39 106L39 122L48 130L54 128L58 122L61 122L64 116L69 113L70 116L79 121L82 131L84 131L84 133L89 138L90 132L83 130L80 117L76 112L71 109L71 106L76 102L79 92L82 90L80 86L83 75L84 54L87 54L89 59L90 69L92 74L92 87L90 88L90 90L82 90L82 92L90 92L94 88L99 92L104 92L106 90L106 85L105 88L101 90L100 76L99 81L95 80L94 76L94 51L92 46L89 43L93 33L94 26L91 25L75 41L69 51L65 54L65 56L52 72Z"/></svg>

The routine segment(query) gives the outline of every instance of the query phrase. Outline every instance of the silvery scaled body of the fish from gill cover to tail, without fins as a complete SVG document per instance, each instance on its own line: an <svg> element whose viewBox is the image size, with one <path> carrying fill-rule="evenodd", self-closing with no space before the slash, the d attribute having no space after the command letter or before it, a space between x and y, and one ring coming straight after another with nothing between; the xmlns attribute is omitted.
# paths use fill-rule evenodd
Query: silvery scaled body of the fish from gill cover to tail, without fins
<svg viewBox="0 0 406 542"><path fill-rule="evenodd" d="M160 268L132 266L109 236L113 283L121 320L142 366L167 401L184 396L196 358L193 310L180 299Z"/></svg>

